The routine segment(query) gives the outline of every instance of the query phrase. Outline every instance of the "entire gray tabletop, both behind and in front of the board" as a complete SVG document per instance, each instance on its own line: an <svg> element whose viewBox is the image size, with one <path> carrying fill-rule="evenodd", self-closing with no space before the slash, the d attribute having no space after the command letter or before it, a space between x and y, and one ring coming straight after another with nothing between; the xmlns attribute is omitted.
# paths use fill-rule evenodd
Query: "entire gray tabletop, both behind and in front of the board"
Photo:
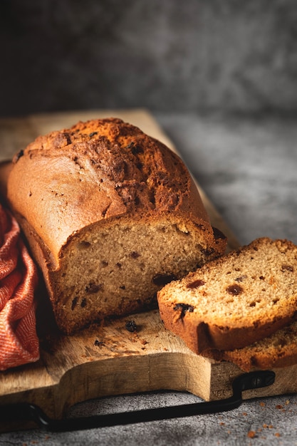
<svg viewBox="0 0 297 446"><path fill-rule="evenodd" d="M293 120L156 114L241 243L269 235L297 243L296 141ZM187 393L158 392L80 403L71 416L194 403ZM249 437L249 432L255 437ZM0 445L297 445L297 396L246 401L215 415L68 433L0 435Z"/></svg>

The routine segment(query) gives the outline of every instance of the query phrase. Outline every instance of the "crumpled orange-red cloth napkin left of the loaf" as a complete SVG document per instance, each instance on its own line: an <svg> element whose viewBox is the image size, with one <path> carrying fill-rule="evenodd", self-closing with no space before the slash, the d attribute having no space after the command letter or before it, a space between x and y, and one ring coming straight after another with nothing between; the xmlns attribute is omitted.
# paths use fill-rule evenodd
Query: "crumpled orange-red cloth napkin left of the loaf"
<svg viewBox="0 0 297 446"><path fill-rule="evenodd" d="M0 204L0 370L37 361L36 266L16 219Z"/></svg>

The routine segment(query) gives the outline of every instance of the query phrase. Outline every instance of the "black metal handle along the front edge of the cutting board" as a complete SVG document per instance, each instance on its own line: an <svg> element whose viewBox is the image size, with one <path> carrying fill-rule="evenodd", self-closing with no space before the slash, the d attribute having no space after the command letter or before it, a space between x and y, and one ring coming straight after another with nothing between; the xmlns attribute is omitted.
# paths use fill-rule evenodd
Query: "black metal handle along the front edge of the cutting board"
<svg viewBox="0 0 297 446"><path fill-rule="evenodd" d="M230 398L205 403L191 403L174 405L165 408L135 410L107 415L93 415L83 418L65 418L53 420L39 408L31 403L18 403L0 406L1 422L26 420L36 422L50 432L65 432L71 430L91 429L95 427L108 427L115 425L129 425L138 422L167 420L170 418L184 418L192 415L226 412L239 407L243 402L242 392L267 387L274 383L275 373L271 370L260 370L244 373L234 379L232 383L233 394Z"/></svg>

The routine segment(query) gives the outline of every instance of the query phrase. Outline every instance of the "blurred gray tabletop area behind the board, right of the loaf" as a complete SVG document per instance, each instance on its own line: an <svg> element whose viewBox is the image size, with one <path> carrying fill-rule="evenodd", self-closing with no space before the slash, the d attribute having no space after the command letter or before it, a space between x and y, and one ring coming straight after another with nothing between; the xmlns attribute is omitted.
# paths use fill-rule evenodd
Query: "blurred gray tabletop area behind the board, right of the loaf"
<svg viewBox="0 0 297 446"><path fill-rule="evenodd" d="M157 114L241 244L297 244L297 120Z"/></svg>

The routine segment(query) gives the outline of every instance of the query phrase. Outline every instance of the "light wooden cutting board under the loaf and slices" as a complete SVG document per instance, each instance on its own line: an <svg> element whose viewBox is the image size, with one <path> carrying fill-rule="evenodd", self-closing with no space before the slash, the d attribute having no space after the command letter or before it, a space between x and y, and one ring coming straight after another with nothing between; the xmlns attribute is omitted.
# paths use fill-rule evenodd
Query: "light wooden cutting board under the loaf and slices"
<svg viewBox="0 0 297 446"><path fill-rule="evenodd" d="M0 161L11 160L37 135L67 128L78 120L109 116L137 125L177 151L146 110L92 110L0 120ZM9 163L2 163L3 193L8 171ZM236 238L199 190L212 224L226 234L229 249L235 249L239 246ZM192 353L181 339L165 330L157 309L63 336L56 330L46 292L39 291L39 296L41 358L37 363L0 372L0 405L35 403L48 416L62 418L69 406L82 400L149 390L183 390L204 400L220 400L231 395L231 382L242 373L234 364L217 363ZM125 327L131 319L137 325L134 333ZM273 385L246 391L244 398L296 393L297 365L274 371ZM0 430L6 430L6 426L0 424Z"/></svg>

